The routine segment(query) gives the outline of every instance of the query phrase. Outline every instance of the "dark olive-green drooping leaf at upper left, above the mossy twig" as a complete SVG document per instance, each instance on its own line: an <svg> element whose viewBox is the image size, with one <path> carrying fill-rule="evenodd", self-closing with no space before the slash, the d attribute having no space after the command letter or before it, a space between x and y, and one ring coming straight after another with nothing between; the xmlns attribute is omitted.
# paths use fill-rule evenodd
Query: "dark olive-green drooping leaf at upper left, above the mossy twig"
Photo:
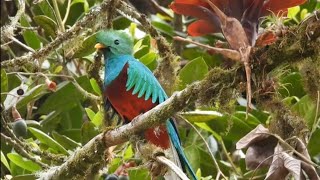
<svg viewBox="0 0 320 180"><path fill-rule="evenodd" d="M49 36L52 38L56 37L57 24L51 18L45 15L39 15L33 17L33 20L44 29Z"/></svg>

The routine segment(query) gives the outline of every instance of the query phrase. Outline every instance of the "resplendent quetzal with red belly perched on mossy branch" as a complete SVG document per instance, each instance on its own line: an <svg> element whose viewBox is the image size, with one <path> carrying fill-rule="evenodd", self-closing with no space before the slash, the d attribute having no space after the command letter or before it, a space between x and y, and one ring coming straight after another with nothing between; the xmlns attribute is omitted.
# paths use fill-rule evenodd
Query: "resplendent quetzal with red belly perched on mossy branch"
<svg viewBox="0 0 320 180"><path fill-rule="evenodd" d="M105 60L104 98L124 119L130 122L168 97L152 72L133 57L132 39L123 31L100 31L95 48L101 50ZM144 138L163 150L172 150L178 166L188 170L196 179L181 147L172 119L166 124L147 129ZM180 165L179 165L180 164Z"/></svg>

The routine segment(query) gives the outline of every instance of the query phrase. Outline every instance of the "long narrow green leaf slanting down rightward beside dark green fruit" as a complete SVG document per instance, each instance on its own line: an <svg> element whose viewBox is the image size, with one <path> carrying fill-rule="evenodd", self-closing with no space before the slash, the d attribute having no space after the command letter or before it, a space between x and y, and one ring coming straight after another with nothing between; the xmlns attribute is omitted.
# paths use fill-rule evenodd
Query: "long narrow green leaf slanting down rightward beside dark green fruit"
<svg viewBox="0 0 320 180"><path fill-rule="evenodd" d="M68 155L68 151L46 133L33 127L28 127L28 129L41 143L48 145L49 147L60 153Z"/></svg>

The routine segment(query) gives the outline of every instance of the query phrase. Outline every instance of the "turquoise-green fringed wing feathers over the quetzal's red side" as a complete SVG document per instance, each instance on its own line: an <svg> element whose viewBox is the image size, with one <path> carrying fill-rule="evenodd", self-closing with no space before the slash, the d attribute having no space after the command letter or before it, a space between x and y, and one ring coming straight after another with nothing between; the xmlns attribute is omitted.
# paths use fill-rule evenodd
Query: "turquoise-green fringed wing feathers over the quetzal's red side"
<svg viewBox="0 0 320 180"><path fill-rule="evenodd" d="M128 61L128 65L127 91L133 88L133 95L138 94L139 98L144 96L145 100L152 98L152 103L156 101L162 103L168 98L158 80L146 66L134 58Z"/></svg>

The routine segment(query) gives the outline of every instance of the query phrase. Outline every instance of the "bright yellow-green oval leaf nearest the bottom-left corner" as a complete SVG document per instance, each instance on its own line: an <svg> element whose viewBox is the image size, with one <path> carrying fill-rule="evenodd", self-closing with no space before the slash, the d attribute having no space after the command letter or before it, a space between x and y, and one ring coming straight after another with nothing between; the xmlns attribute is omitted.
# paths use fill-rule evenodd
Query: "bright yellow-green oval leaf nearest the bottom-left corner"
<svg viewBox="0 0 320 180"><path fill-rule="evenodd" d="M11 162L16 164L17 166L22 167L23 169L26 169L30 172L36 172L41 170L41 167L38 164L21 157L17 153L8 153L7 157L10 159Z"/></svg>

